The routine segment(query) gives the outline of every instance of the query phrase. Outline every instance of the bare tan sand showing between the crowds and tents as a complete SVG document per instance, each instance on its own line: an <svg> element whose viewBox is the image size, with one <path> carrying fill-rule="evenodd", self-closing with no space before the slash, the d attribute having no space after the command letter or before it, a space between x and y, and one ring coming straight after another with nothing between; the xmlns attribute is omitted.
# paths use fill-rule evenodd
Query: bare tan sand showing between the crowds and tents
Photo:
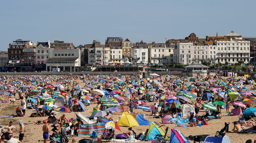
<svg viewBox="0 0 256 143"><path fill-rule="evenodd" d="M79 85L81 85L82 87L84 86L84 83L82 83L82 81L77 80L76 82L78 82ZM251 87L251 85L247 86L247 88L250 88L250 87ZM150 105L150 104L153 104L153 102L147 103L147 105ZM17 107L20 107L20 101L16 100L14 105L10 104L10 102L2 103L0 105L1 105L0 116L4 116L4 115L8 116L11 114L15 114L15 109ZM93 107L96 107L95 103L89 105L89 107L87 107L87 110L82 112L82 114L84 114L86 116L90 116L92 114ZM151 116L151 112L142 111L141 109L134 109L134 111L137 113L145 114L146 119L149 121L157 121L160 124L162 123L161 119L154 119L153 116ZM226 109L222 109L222 115L227 114L225 111L226 111ZM27 109L26 116L24 116L24 117L0 118L0 124L2 124L5 127L5 126L9 125L9 121L12 121L14 126L16 126L18 128L19 126L17 124L17 120L19 120L19 119L21 119L23 121L23 123L28 123L29 121L34 123L39 120L42 121L42 120L47 119L47 117L35 117L35 118L29 117L30 114L34 113L34 112L35 112L35 110L33 110L33 109ZM71 117L76 117L74 112L60 113L60 114L56 114L55 116L57 118L60 118L60 116L62 114L66 114L67 119L70 119ZM204 112L200 112L200 114L204 114ZM119 115L112 115L112 117L113 117L114 121L119 119ZM186 137L190 136L190 135L195 136L195 135L203 135L203 134L209 134L210 136L214 136L216 131L219 131L221 128L224 127L224 122L230 123L229 131L231 131L233 129L232 122L234 122L234 121L238 121L238 116L222 116L221 119L212 119L212 120L208 121L208 123L209 123L208 126L204 125L201 127L189 127L189 129L186 129L183 127L175 127L175 124L165 124L165 125L169 126L169 131L167 133L167 136L170 136L171 128L178 129ZM43 124L40 124L40 125L27 124L27 125L25 125L24 143L42 143L42 141L43 141L42 126L43 126ZM115 131L116 134L128 131L128 127L120 127L120 128L121 128L121 131ZM132 129L137 134L142 133L142 131L146 131L148 128L149 128L149 126L132 127ZM246 134L226 133L226 135L229 136L232 143L245 143L246 140L248 140L248 139L253 139L253 140L256 139L255 134L249 134L249 133L246 133ZM14 137L18 138L18 136L19 136L19 133L14 132ZM82 138L88 138L88 137L89 136L79 136L79 137L75 137L75 138L77 139L77 141L79 141ZM140 141L140 142L145 142L145 141ZM193 141L190 141L190 142L192 143ZM151 143L151 141L147 141L147 143Z"/></svg>

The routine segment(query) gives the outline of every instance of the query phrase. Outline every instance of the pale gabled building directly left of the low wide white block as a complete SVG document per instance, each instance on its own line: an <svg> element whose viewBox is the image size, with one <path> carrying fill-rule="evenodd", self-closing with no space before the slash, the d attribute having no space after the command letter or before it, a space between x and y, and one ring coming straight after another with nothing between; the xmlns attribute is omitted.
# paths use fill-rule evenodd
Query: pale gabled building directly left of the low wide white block
<svg viewBox="0 0 256 143"><path fill-rule="evenodd" d="M37 64L45 64L46 61L49 59L50 41L37 42L35 51Z"/></svg>

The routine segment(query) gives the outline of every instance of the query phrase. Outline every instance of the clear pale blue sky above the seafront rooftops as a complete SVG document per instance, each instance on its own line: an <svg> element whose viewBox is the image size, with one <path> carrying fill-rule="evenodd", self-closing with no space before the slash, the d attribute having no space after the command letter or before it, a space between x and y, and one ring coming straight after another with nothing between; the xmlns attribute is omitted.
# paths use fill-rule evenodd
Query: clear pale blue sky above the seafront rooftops
<svg viewBox="0 0 256 143"><path fill-rule="evenodd" d="M256 0L2 0L0 50L17 39L71 42L107 37L163 43L224 36L256 36Z"/></svg>

